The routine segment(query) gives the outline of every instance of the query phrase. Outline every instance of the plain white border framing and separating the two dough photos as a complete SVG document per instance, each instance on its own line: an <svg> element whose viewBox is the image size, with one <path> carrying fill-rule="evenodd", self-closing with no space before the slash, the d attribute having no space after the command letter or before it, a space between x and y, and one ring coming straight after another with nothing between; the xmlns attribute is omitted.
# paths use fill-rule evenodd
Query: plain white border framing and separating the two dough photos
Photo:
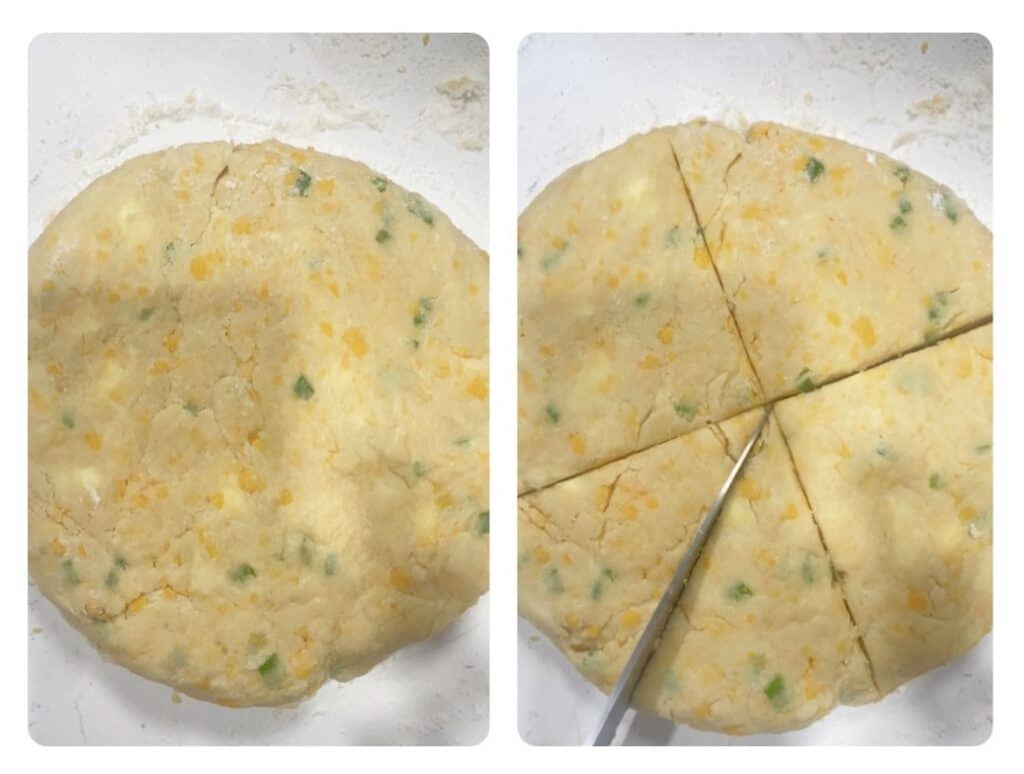
<svg viewBox="0 0 1024 774"><path fill-rule="evenodd" d="M1000 11L997 8L1006 7ZM627 770L713 770L715 772L765 772L827 770L829 772L927 771L928 774L964 771L1013 771L1019 767L1018 744L1024 712L1020 702L1024 686L1024 636L1020 621L1020 595L1024 567L1019 552L1024 545L1024 525L1016 518L1020 510L1015 481L1019 477L1012 454L1021 430L1022 369L1013 352L1024 326L1019 298L1024 272L1015 256L1024 254L1024 240L1014 227L1017 219L1020 174L1024 155L1017 141L1022 123L1015 99L1016 73L1024 71L1016 13L1008 4L975 0L970 5L933 0L923 15L921 4L859 0L856 3L815 2L674 3L664 0L632 0L628 5L592 0L581 9L571 4L520 0L512 5L483 4L462 0L443 6L413 0L393 0L386 6L354 5L311 0L303 6L253 0L238 6L178 0L164 5L121 3L49 3L19 6L8 11L0 46L0 73L5 79L11 120L0 124L10 158L11 184L0 187L3 212L9 215L6 230L11 261L4 284L3 330L0 357L10 363L7 379L0 380L5 406L2 470L4 491L11 504L5 561L0 562L0 589L6 595L11 636L0 638L2 662L10 676L0 703L0 729L5 742L5 763L15 770L37 772L102 772L145 770L154 774L231 770L246 774L296 770L409 771L441 770L454 774L480 771L580 771L588 774L618 774ZM18 172L28 145L23 105L27 103L28 46L31 38L45 31L175 30L462 30L482 34L490 49L490 252L492 252L492 582L490 603L506 613L490 616L492 681L490 732L475 747L442 748L350 748L327 747L183 747L155 751L121 747L116 750L78 747L39 747L27 731L27 680L19 674L26 663L24 636L26 502L26 269L24 258L28 233L28 175ZM996 368L995 441L1010 449L995 456L995 511L999 536L995 544L996 643L994 730L981 747L634 747L615 750L584 750L579 747L530 747L521 742L517 730L515 609L515 231L519 212L516 196L516 53L523 36L538 31L820 31L861 30L888 32L921 30L980 31L995 50L995 302L999 325L995 327L996 349L1001 359ZM20 169L24 169L20 168ZM1007 353L1002 356L1001 353ZM1008 514L1006 518L1000 514ZM507 546L502 551L498 547Z"/></svg>

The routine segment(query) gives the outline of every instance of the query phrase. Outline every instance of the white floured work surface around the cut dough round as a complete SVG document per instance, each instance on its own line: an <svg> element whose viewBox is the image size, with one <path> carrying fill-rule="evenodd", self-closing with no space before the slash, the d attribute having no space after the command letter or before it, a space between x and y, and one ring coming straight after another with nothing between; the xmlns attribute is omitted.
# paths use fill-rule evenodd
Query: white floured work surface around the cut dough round
<svg viewBox="0 0 1024 774"><path fill-rule="evenodd" d="M531 36L519 50L520 208L566 168L698 117L736 129L776 121L886 153L947 184L991 225L992 53L977 36ZM585 741L604 698L520 620L526 741ZM733 737L630 711L618 740L976 744L991 727L989 636L882 702L841 707L801 731Z"/></svg>

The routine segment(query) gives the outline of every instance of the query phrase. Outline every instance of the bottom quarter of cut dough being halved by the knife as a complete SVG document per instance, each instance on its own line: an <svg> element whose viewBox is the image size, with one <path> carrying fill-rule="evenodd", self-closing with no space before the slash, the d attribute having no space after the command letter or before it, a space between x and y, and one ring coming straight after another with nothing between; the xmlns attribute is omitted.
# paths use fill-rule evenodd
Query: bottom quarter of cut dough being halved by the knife
<svg viewBox="0 0 1024 774"><path fill-rule="evenodd" d="M759 418L743 414L520 501L521 612L603 690L728 474L728 453ZM697 728L755 733L873 698L774 422L733 492L637 705Z"/></svg>

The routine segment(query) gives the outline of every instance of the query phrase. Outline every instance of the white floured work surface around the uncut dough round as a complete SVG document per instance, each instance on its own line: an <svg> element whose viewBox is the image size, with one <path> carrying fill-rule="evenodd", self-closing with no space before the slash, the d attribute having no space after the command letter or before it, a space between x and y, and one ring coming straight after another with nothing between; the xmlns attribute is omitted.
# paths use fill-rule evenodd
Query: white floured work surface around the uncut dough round
<svg viewBox="0 0 1024 774"><path fill-rule="evenodd" d="M97 175L182 142L345 156L487 235L487 49L474 36L44 36L30 50L29 235ZM294 708L229 709L102 659L29 589L29 730L47 744L473 744L487 602Z"/></svg>

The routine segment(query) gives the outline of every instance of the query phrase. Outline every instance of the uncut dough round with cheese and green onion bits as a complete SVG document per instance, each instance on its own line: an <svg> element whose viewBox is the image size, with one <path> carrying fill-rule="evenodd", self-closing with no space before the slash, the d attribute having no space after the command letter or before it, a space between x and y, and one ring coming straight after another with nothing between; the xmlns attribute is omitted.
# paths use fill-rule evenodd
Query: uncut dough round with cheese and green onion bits
<svg viewBox="0 0 1024 774"><path fill-rule="evenodd" d="M486 588L487 257L367 167L185 145L30 252L29 564L123 665L293 702Z"/></svg>

